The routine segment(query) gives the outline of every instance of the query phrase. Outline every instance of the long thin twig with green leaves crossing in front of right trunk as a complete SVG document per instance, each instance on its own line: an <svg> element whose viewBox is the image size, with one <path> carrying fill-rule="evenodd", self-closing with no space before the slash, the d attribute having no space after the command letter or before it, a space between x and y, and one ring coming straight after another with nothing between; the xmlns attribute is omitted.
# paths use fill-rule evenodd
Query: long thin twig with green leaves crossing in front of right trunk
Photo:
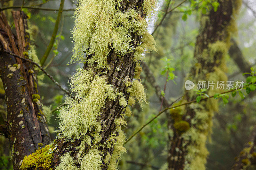
<svg viewBox="0 0 256 170"><path fill-rule="evenodd" d="M250 84L251 84L251 83L250 83ZM247 86L249 86L249 84L248 84ZM244 87L247 87L247 86L244 86ZM226 93L229 93L229 92L232 92L232 91L235 91L235 90L236 90L236 89L228 90L228 91L223 92L223 93L220 93L220 94L226 94ZM210 98L213 98L213 96L202 98L201 101L207 100L207 99L210 99ZM175 102L173 102L173 103L175 103ZM172 103L170 106L172 106L173 103ZM173 106L173 107L170 107L170 106L169 106L169 107L165 108L164 110L160 111L155 117L153 117L152 119L150 119L146 124L144 124L143 126L141 126L140 129L138 129L137 131L135 131L135 132L132 134L132 136L131 136L130 138L128 138L128 139L124 142L124 144L126 144L127 142L129 142L129 141L130 141L135 135L137 135L145 126L147 126L148 124L150 124L153 120L155 120L158 116L160 116L160 115L161 115L162 113L164 113L165 111L170 110L170 109L175 109L175 108L177 108L177 107L184 106L184 105L191 104L191 103L196 103L196 100L192 100L192 101L190 101L190 102L182 103L182 104L179 104L179 105L176 105L176 106Z"/></svg>

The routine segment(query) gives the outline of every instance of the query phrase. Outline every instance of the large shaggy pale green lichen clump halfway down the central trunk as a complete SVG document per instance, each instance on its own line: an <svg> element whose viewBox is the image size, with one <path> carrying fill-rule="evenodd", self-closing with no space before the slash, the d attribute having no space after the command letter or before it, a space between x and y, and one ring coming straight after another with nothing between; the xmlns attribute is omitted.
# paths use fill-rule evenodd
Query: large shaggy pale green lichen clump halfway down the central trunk
<svg viewBox="0 0 256 170"><path fill-rule="evenodd" d="M85 138L87 132L99 132L101 126L97 117L105 106L108 97L115 100L114 89L99 75L91 75L91 71L80 68L70 79L72 93L76 98L66 98L66 106L60 108L60 131L67 138ZM79 102L78 102L79 100Z"/></svg>

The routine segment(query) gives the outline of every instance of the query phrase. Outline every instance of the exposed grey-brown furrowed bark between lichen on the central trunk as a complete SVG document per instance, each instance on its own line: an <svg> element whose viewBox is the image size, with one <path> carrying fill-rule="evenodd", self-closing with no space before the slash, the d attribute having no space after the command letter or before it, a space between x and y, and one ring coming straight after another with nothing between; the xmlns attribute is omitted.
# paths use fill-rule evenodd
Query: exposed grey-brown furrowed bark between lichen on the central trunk
<svg viewBox="0 0 256 170"><path fill-rule="evenodd" d="M134 0L134 1L123 1L121 2L122 9L121 11L127 11L129 9L134 8L136 11L139 11L141 16L145 18L145 14L142 14L142 1ZM133 43L132 46L136 47L139 45L140 42L140 36L132 34ZM125 82L129 79L132 80L132 77L134 75L134 70L136 67L136 62L132 61L134 52L127 53L124 56L120 56L112 50L108 54L108 64L110 66L110 69L97 69L95 67L92 67L92 71L94 74L105 72L107 74L102 75L103 78L105 78L107 84L111 84L114 89L117 90L117 92L123 92L124 97L126 101L128 101L129 93L126 92L127 87L125 86ZM90 56L88 56L90 57ZM94 65L96 66L96 65ZM90 68L88 63L86 62L84 64L84 69L87 70ZM116 98L116 101L111 101L107 98L105 107L102 109L102 115L99 117L99 121L102 127L101 131L101 141L98 144L98 150L104 151L103 159L105 158L107 153L110 153L112 155L114 147L113 148L106 148L101 147L100 144L106 145L107 138L109 135L116 131L116 124L114 123L114 119L120 117L121 113L124 112L123 107L119 104L119 98L118 96ZM106 126L104 126L106 125ZM117 132L116 132L117 133ZM116 134L118 135L118 134ZM60 164L60 156L64 156L67 152L70 152L71 157L73 157L75 160L77 159L77 152L78 150L74 149L76 146L80 145L81 140L76 140L75 142L70 142L68 140L65 140L64 138L57 138L53 144L53 146L57 145L56 151L53 152L53 166L56 167ZM69 149L68 149L68 148ZM90 151L91 148L89 145L85 147L85 153ZM77 165L79 166L79 165ZM108 163L101 166L102 170L108 169Z"/></svg>

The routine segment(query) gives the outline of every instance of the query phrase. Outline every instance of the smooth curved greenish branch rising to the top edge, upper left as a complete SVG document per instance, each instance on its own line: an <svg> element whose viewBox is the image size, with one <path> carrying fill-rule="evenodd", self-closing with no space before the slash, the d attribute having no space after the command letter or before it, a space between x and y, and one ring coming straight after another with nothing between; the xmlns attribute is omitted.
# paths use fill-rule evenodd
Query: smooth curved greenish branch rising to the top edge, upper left
<svg viewBox="0 0 256 170"><path fill-rule="evenodd" d="M55 22L55 26L54 26L54 29L53 29L53 32L52 32L52 38L51 38L51 41L50 41L49 45L47 46L47 48L44 52L43 57L40 60L41 66L44 65L44 62L47 59L49 53L51 52L52 46L53 46L54 41L56 39L56 35L57 35L58 29L59 29L59 24L60 24L60 18L61 18L63 6L64 6L64 2L65 2L65 0L60 1L60 9L59 9L58 16L57 16L57 19L56 19L56 22Z"/></svg>

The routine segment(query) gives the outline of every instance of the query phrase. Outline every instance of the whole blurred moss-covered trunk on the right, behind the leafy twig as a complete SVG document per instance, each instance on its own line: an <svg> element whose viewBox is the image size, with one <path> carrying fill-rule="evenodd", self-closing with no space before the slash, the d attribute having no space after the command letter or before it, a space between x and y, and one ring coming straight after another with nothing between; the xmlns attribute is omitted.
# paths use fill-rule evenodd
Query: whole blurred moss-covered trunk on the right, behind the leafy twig
<svg viewBox="0 0 256 170"><path fill-rule="evenodd" d="M223 57L229 47L229 29L237 1L219 0L218 2L220 3L218 10L214 12L212 9L207 16L203 15L201 19L200 33L196 39L194 52L195 63L186 79L195 84L198 81L214 81L215 83L225 81L225 73L222 71ZM206 93L212 95L218 91L207 90ZM198 95L192 90L185 91L183 101L195 100L196 96ZM208 154L205 140L211 132L212 114L218 109L214 100L187 105L183 111L177 110L177 113L171 110L174 124L169 124L170 127L168 127L173 131L169 139L169 170L184 167L204 169ZM188 126L186 122L189 124L189 130L185 127Z"/></svg>

